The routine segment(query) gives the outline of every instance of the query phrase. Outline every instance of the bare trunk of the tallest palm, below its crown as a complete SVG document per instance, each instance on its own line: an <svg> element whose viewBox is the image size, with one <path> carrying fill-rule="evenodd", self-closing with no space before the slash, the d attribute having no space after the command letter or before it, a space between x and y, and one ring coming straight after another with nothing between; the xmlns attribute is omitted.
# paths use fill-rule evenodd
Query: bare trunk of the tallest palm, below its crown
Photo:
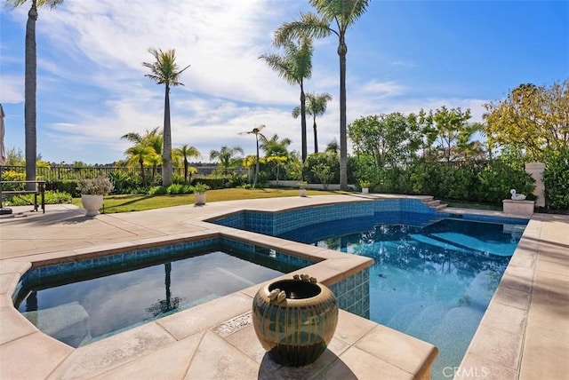
<svg viewBox="0 0 569 380"><path fill-rule="evenodd" d="M344 36L340 37L340 189L348 190L348 134L346 129L346 54L348 46Z"/></svg>

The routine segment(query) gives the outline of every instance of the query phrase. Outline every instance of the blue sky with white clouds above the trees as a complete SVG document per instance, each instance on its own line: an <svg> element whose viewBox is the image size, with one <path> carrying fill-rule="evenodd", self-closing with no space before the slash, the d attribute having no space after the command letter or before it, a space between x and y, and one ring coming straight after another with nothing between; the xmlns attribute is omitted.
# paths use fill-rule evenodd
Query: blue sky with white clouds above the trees
<svg viewBox="0 0 569 380"><path fill-rule="evenodd" d="M37 152L44 161L124 159L131 131L163 125L164 87L144 75L148 47L176 49L185 86L172 89L172 145L242 146L259 124L301 150L292 86L258 59L274 30L310 9L303 0L66 0L41 8L37 41ZM5 144L24 151L24 45L28 4L0 7L0 102ZM306 91L333 100L318 119L323 149L339 140L338 40L315 43ZM362 115L470 108L520 83L569 77L567 1L381 1L347 34L348 123ZM310 123L309 123L310 125ZM309 153L313 151L309 130Z"/></svg>

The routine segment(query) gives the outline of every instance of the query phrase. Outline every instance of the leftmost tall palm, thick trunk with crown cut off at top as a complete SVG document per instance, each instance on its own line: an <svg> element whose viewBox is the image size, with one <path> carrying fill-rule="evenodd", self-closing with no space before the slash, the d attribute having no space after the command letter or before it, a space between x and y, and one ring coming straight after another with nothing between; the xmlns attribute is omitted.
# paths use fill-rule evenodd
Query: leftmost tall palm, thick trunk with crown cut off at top
<svg viewBox="0 0 569 380"><path fill-rule="evenodd" d="M11 4L13 8L27 3L27 0L6 0L6 4ZM37 140L36 140L36 84L37 84L37 62L36 62L36 20L37 8L44 5L55 8L63 3L63 0L31 0L31 7L28 12L28 22L26 23L26 67L24 77L24 127L26 131L26 180L36 180L36 159L37 159ZM35 190L36 184L28 183L26 190Z"/></svg>

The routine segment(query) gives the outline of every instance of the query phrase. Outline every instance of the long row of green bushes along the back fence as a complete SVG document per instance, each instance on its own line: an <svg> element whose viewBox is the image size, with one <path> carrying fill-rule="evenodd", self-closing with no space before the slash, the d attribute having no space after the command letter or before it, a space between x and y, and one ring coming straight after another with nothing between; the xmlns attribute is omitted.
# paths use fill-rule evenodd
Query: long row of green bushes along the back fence
<svg viewBox="0 0 569 380"><path fill-rule="evenodd" d="M356 157L349 157L349 183L357 184L362 168L365 177L371 183L370 191L385 194L429 194L445 201L485 202L501 205L509 198L509 190L515 188L518 194L526 194L528 200L536 200L549 210L569 210L569 152L562 152L548 157L548 163L542 170L544 189L535 186L535 180L525 170L526 162L509 162L501 159L468 162L425 162L414 161L405 165L384 165L378 168L365 167L357 162ZM329 170L323 165L329 164ZM198 167L191 178L184 178L183 168L175 168L174 185L163 188L160 168L145 168L145 176L150 180L143 186L140 168L132 167L52 167L37 168L37 178L46 181L46 190L59 191L73 196L78 178L93 178L107 175L115 185L114 194L183 194L191 192L191 185L201 182L211 189L246 186L246 170L231 169L228 173L217 170L215 166ZM275 172L261 164L259 182L266 184L276 179ZM304 179L309 184L322 184L325 172L327 184L337 184L339 166L337 162L307 160L303 166ZM3 180L21 180L25 178L25 167L2 167ZM300 180L281 172L284 180ZM329 188L334 188L330 186Z"/></svg>

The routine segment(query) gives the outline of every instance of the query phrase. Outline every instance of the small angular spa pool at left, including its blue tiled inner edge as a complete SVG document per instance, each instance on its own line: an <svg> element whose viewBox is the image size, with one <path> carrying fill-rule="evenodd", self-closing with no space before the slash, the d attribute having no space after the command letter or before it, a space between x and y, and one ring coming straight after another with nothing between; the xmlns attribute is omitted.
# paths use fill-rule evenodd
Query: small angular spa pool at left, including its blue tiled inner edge
<svg viewBox="0 0 569 380"><path fill-rule="evenodd" d="M237 241L193 241L32 269L14 305L79 347L310 264Z"/></svg>

